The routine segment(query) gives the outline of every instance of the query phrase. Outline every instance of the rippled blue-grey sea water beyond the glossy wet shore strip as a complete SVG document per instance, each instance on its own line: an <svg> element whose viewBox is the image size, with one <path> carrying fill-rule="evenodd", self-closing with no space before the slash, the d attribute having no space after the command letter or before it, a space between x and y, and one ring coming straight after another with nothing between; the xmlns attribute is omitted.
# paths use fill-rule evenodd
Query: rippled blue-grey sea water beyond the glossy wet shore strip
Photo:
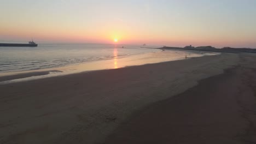
<svg viewBox="0 0 256 144"><path fill-rule="evenodd" d="M39 44L38 47L0 47L0 73L57 68L160 51L140 47L140 45L113 44ZM118 53L115 53L114 49L118 49Z"/></svg>

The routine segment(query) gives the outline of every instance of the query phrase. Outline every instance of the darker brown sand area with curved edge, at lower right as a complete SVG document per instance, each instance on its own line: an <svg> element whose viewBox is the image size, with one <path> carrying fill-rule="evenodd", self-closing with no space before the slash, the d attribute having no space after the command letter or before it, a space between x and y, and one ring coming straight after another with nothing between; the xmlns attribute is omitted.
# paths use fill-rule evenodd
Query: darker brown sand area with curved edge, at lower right
<svg viewBox="0 0 256 144"><path fill-rule="evenodd" d="M104 143L256 143L256 57L134 113Z"/></svg>

